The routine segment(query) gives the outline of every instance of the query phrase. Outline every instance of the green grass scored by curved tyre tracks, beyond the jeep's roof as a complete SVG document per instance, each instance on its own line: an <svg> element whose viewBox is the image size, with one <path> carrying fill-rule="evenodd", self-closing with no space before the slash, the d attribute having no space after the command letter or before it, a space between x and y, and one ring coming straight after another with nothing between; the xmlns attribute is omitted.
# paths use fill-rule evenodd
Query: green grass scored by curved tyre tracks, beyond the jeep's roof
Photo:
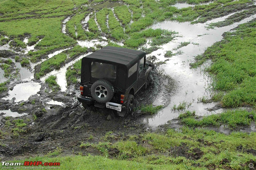
<svg viewBox="0 0 256 170"><path fill-rule="evenodd" d="M101 2L103 1L92 1L91 4ZM97 5L94 5L94 12L96 13L96 19L100 25L100 29L106 34L106 37L124 42L125 48L138 49L140 45L146 43L146 38L152 37L153 42L151 43L151 46L153 47L148 49L149 52L152 49L159 48L159 45L168 43L172 40L171 37L164 34L150 36L143 34L143 29L152 25L156 21L173 19L180 22L205 22L210 18L212 19L224 16L252 4L252 1L250 0L218 0L210 4L201 4L207 2L204 0L190 0L186 2L188 4L196 4L194 8L188 7L177 9L176 7L171 6L177 2L184 3L185 1L161 0L157 2L154 0L125 0L124 3L129 6L120 5L118 3L113 4L114 6L116 5L116 7L114 7L114 12L119 19L119 22L114 17L111 9L106 8L110 6L109 4L111 3L108 5L100 4L101 8L103 7L103 9L100 9L97 7ZM8 39L3 35L11 38L11 40L14 39L14 42L16 42L19 47L26 46L22 42L22 36L24 37L24 35L29 35L28 44L31 45L42 39L42 41L36 44L37 51L30 51L28 53L30 60L32 62L36 62L42 58L45 58L45 54L49 54L55 49L63 49L74 46L76 44L76 40L91 40L97 37L100 38L101 32L94 21L94 12L92 15L90 15L90 19L88 21L88 27L91 32L85 31L82 28L81 21L85 18L85 16L93 11L94 7L92 6L92 10L89 10L89 8L83 4L88 4L88 1L68 0L64 3L62 3L60 0L40 0L37 2L31 0L19 0L17 2L7 0L1 1L0 44L8 42ZM252 15L255 11L253 6L247 7L247 9L247 11L230 16L230 18L228 18L230 21L226 22L226 25L227 23L230 24L239 19L241 20L246 15ZM68 16L71 17L66 25L69 36L61 32L61 22ZM106 25L107 16L108 27ZM218 25L223 24L212 23L212 25L209 26L213 27ZM115 43L109 43L108 45L118 46Z"/></svg>

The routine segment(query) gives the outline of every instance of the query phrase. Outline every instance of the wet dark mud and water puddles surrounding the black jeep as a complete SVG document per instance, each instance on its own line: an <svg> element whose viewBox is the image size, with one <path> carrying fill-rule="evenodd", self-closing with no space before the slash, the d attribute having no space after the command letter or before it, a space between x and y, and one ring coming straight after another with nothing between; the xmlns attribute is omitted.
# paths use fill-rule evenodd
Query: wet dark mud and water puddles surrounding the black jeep
<svg viewBox="0 0 256 170"><path fill-rule="evenodd" d="M104 7L113 8L117 5L120 5L120 3L104 2L91 6L94 9L101 9ZM180 8L182 5L184 4L176 4L176 7ZM86 30L86 24L90 15L86 16L84 21L82 21L83 28ZM96 16L93 17L100 30ZM207 23L225 20L226 18L228 18L228 16L208 21ZM224 108L218 103L197 103L198 97L203 95L209 96L208 91L205 91L205 89L208 87L208 84L211 83L211 79L208 79L208 75L204 75L201 69L207 67L210 61L201 69L198 68L196 70L191 70L189 63L193 61L195 55L203 53L207 46L210 46L216 41L220 41L223 32L253 18L254 16L231 26L216 30L207 30L205 28L207 23L190 25L188 22L177 23L164 21L153 25L152 28L160 27L162 29L177 31L182 35L182 37L176 37L172 42L162 45L161 49L153 51L148 55L148 60L155 60L155 62L151 64L159 62L162 63L162 65L159 65L159 63L156 64L156 67L151 71L147 80L148 88L141 90L135 95L134 104L136 107L141 104L151 103L153 103L153 105L166 106L154 116L145 116L142 115L140 111L136 111L132 116L123 118L116 116L115 112L111 109L100 109L94 106L83 108L76 99L76 96L79 95L79 84L67 86L65 72L68 67L71 67L76 61L89 53L69 59L61 65L59 70L54 70L53 68L48 70L48 74L40 80L33 79L33 74L39 71L40 64L45 61L46 58L51 58L70 48L55 49L55 52L48 52L42 56L42 58L44 58L43 60L35 64L30 63L31 68L29 69L21 67L19 63L14 62L14 68L20 69L21 80L11 80L11 82L6 84L8 90L0 93L0 129L4 134L9 134L3 135L3 139L0 139L0 143L6 145L6 147L0 145L0 156L43 156L49 151L54 151L57 147L63 148L61 155L78 154L78 152L82 152L83 155L87 153L100 155L99 151L91 147L82 148L81 150L79 145L81 142L102 142L102 136L109 131L115 132L113 135L115 138L127 139L129 135L138 135L150 131L163 131L166 130L166 128L179 130L182 127L180 121L173 119L179 115L179 112L172 111L171 109L174 104L178 105L179 102L191 102L191 105L187 109L196 110L196 113L199 115L223 111ZM66 34L66 22L69 19L70 17L62 21L62 29L60 31L64 34ZM104 46L108 44L105 36L104 34L102 35L102 40L77 41L77 43L82 47L88 48L97 45ZM30 50L35 50L36 43L38 43L33 42L29 44L28 37L29 35L23 37L23 42L27 43L27 48L18 50L18 52L24 51L20 53L20 56L28 54ZM38 38L42 39L43 37ZM181 42L190 42L190 44L181 47L179 50L182 50L184 53L178 54L178 51L173 49L180 45ZM120 43L120 45L124 44ZM1 46L0 57L14 59L17 53L9 50L12 50L12 48L10 48L8 44ZM172 56L172 58L166 60L164 54L167 50L172 50L174 53L177 53L176 56ZM163 64L164 61L166 64ZM0 75L3 75L3 70L1 69ZM60 91L52 92L49 86L44 82L45 78L49 75L57 76L57 83L61 87ZM79 79L79 76L77 78ZM1 81L5 80L1 79ZM9 121L12 125L8 128L5 126L6 120L4 117L6 116L11 116ZM19 136L14 135L11 130L15 127L12 121L15 120L16 116L19 116L20 119L23 119L25 123L27 123L27 126L21 128L24 132L20 132ZM230 134L234 131L223 125L220 127L208 126L205 128L225 134ZM248 127L239 126L235 131L255 131L255 123L252 122L251 126ZM93 136L93 139L91 139L90 136ZM117 149L109 150L110 156L113 157L115 157L118 152ZM246 152L254 153L255 150L247 149ZM203 152L200 151L199 148L188 148L184 145L171 148L170 155L184 156L197 160L203 156Z"/></svg>

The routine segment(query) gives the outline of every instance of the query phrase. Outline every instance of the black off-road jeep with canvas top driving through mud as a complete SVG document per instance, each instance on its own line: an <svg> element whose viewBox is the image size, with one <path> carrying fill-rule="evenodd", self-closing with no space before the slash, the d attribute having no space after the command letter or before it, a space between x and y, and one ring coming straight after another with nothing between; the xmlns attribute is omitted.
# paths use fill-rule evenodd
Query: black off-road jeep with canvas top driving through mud
<svg viewBox="0 0 256 170"><path fill-rule="evenodd" d="M104 47L82 59L81 96L77 100L117 110L119 116L133 110L134 95L147 88L152 67L146 53L118 47Z"/></svg>

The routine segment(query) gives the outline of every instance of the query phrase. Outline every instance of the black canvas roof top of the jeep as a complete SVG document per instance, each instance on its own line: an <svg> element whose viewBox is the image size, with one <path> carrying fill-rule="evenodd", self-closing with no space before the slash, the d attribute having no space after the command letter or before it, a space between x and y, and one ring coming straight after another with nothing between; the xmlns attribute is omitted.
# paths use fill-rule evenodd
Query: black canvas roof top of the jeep
<svg viewBox="0 0 256 170"><path fill-rule="evenodd" d="M100 50L86 56L85 58L99 59L125 65L127 68L133 66L137 61L146 55L143 51L130 50L119 47L103 47Z"/></svg>

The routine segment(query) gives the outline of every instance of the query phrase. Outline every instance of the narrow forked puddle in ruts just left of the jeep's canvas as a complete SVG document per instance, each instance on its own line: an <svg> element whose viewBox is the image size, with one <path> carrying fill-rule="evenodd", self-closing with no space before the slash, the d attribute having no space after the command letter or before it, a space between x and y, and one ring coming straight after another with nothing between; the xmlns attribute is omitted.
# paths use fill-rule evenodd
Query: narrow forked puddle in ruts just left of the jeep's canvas
<svg viewBox="0 0 256 170"><path fill-rule="evenodd" d="M50 73L47 73L44 77L42 77L40 80L45 81L47 77L50 75L56 75L57 76L57 83L60 85L60 91L66 91L67 89L67 80L66 80L66 71L69 66L72 66L76 61L82 59L83 57L91 54L92 52L89 52L87 54L81 55L78 58L72 60L71 62L67 63L65 66L61 67L58 70L53 70Z"/></svg>

